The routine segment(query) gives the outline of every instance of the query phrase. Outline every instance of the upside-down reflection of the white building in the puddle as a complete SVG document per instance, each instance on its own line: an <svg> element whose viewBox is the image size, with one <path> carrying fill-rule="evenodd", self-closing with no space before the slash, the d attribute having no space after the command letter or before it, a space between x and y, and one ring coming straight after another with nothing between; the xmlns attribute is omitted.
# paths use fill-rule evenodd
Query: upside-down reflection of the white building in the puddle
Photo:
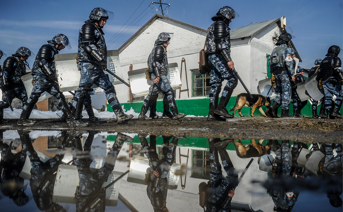
<svg viewBox="0 0 343 212"><path fill-rule="evenodd" d="M109 136L107 137L107 142L111 142L112 140L115 140L115 136L110 139ZM162 148L162 137L157 137L156 141L158 151L159 148ZM119 157L128 157L131 153L145 157L140 153L140 141L138 136L134 137L132 143L127 142L126 144L127 145L123 145ZM187 155L188 149L189 159L186 178L185 175L180 176L183 184L186 181L185 189L181 188L181 180L179 180L177 189L168 190L167 207L170 211L203 211L199 205L198 186L201 182L208 181L208 175L211 172L211 168L208 165L208 141L206 138L187 138L187 142L184 139L179 140L175 157L177 164L180 163L179 155ZM240 175L250 159L238 158L233 145L229 145L228 149L230 158ZM130 150L132 150L132 152ZM186 164L186 161L186 157L181 157L181 164ZM115 171L126 170L127 167L128 163L117 163ZM252 179L261 181L267 179L267 173L260 171L258 168L257 158L253 161L249 170L244 175L242 182L235 191L232 209L251 211L252 208L257 211L259 208L264 208L262 211L272 211L273 205L269 205L270 202L272 203L271 198L260 185L251 184L250 182ZM259 194L252 195L250 192L251 190ZM146 196L146 185L129 183L126 180L126 177L122 180L119 198L122 202L129 202L133 208L136 208L140 212L152 210L150 201Z"/></svg>

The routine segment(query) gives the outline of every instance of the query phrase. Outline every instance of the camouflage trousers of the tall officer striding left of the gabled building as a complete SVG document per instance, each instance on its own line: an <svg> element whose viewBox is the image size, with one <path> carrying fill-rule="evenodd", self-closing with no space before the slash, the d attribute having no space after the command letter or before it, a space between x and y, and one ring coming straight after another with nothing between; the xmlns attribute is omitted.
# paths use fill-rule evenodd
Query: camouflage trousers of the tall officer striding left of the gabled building
<svg viewBox="0 0 343 212"><path fill-rule="evenodd" d="M84 87L92 87L93 84L104 89L105 96L111 107L120 107L116 96L116 90L110 82L104 71L93 63L79 62L78 68L81 71L79 88L75 93L75 98L79 99ZM89 102L89 101L88 101ZM73 101L73 107L76 108L77 101Z"/></svg>

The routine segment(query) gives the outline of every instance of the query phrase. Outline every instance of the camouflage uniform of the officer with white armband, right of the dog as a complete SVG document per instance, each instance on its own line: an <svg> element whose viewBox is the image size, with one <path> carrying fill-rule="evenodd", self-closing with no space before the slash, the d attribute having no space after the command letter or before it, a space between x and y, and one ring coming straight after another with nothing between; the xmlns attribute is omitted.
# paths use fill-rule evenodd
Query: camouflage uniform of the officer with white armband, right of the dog
<svg viewBox="0 0 343 212"><path fill-rule="evenodd" d="M295 53L294 49L288 47L285 43L281 44L279 47L285 48L284 51L280 52L284 55L285 60L287 57L292 58L292 55ZM286 66L285 70L283 70L280 74L274 74L275 83L277 88L279 89L279 94L275 97L274 101L278 102L279 104L281 102L281 109L284 110L289 109L289 102L291 101L292 96L291 82L289 79L290 77L294 77L294 68L292 61L284 61L284 64ZM282 65L276 64L274 67L282 67Z"/></svg>

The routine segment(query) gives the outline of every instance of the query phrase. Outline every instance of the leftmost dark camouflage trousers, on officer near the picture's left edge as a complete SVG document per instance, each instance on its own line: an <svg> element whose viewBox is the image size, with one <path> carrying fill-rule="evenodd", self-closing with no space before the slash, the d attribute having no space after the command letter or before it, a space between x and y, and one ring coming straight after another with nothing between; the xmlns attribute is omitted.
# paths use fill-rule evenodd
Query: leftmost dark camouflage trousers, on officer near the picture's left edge
<svg viewBox="0 0 343 212"><path fill-rule="evenodd" d="M24 103L27 101L27 92L26 92L25 86L21 84L9 84L7 87L11 88L5 91L9 100L6 99L4 93L2 92L2 101L0 101L0 108L10 107L9 104L12 103L12 100L14 98L18 98L22 100L23 105L24 105Z"/></svg>

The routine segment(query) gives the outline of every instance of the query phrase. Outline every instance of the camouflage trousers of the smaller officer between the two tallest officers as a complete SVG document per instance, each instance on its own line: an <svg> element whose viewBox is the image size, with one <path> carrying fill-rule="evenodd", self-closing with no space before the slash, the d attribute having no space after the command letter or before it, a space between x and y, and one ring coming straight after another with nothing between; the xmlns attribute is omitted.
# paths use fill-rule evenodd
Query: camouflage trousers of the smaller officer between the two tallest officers
<svg viewBox="0 0 343 212"><path fill-rule="evenodd" d="M153 81L156 78L155 74L151 74L151 84L150 84L150 88L149 88L149 94L146 96L146 98L143 101L143 106L145 105L146 107L149 107L150 105L147 105L147 103L149 102L150 98L156 98L157 99L157 95L158 93L163 93L164 96L167 99L167 104L169 105L170 109L173 110L174 108L176 108L176 103L175 103L175 94L173 91L173 88L171 88L169 80L167 78L167 76L162 75L159 78L159 82L157 84L154 84Z"/></svg>

